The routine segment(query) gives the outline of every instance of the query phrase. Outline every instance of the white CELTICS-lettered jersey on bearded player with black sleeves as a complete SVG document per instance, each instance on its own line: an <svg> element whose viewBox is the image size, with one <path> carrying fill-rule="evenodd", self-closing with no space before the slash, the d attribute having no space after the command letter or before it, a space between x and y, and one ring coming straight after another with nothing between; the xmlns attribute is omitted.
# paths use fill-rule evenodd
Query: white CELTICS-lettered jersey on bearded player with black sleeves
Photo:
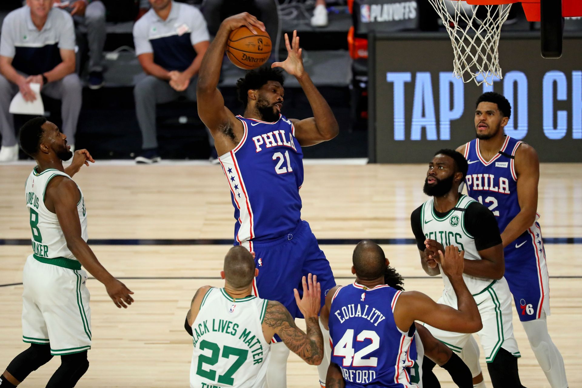
<svg viewBox="0 0 582 388"><path fill-rule="evenodd" d="M420 222L423 227L424 235L427 238L440 242L443 246L457 246L459 251L465 252L465 259L481 260L481 256L479 256L479 252L475 247L474 237L471 236L464 227L464 215L467 206L469 206L470 203L475 202L475 200L466 195L461 195L459 202L457 202L455 207L453 207L453 209L442 218L435 214L434 204L432 202L432 198L425 202L420 212ZM440 264L439 269L441 269ZM441 273L443 273L442 269ZM469 288L469 291L473 295L485 290L485 288L494 281L492 279L479 278L467 274L463 274L463 278L465 284L467 284L467 288ZM449 278L443 275L442 280L445 283L443 295L448 293L450 294L449 297L455 298L455 292L453 292L453 287L450 284Z"/></svg>

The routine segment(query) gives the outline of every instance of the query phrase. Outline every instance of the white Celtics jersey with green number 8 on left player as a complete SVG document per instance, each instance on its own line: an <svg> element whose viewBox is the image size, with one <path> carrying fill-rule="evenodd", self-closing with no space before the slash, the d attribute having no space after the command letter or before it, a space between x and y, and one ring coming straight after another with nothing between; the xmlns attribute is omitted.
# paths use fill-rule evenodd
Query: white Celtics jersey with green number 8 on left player
<svg viewBox="0 0 582 388"><path fill-rule="evenodd" d="M30 230L32 232L33 255L40 259L66 258L76 260L73 253L67 248L65 235L61 229L56 214L44 206L44 197L47 184L52 178L62 175L70 178L65 172L49 168L37 172L38 166L33 168L29 178L26 179L24 189L26 193L26 207L29 212ZM87 241L87 211L81 189L80 199L77 203L79 221L81 221L81 237Z"/></svg>

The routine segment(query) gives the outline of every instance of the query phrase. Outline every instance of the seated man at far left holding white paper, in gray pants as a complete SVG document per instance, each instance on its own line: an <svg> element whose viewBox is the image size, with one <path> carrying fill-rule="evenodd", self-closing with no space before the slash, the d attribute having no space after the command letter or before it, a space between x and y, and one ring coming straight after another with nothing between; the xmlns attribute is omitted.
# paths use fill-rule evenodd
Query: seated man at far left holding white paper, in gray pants
<svg viewBox="0 0 582 388"><path fill-rule="evenodd" d="M41 93L62 100L63 132L74 150L81 111L81 82L74 73L75 35L72 17L52 8L53 0L27 0L2 23L0 35L0 161L18 159L10 101L20 91L24 100L36 99L29 83L40 83Z"/></svg>

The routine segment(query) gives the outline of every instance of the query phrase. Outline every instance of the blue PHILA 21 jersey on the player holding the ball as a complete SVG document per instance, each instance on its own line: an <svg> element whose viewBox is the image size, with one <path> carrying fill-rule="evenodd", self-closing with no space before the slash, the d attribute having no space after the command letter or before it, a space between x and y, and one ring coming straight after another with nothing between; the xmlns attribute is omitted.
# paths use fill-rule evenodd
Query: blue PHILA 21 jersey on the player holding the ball
<svg viewBox="0 0 582 388"><path fill-rule="evenodd" d="M239 145L219 157L235 207L235 245L279 238L301 220L303 152L291 121L237 116L244 133Z"/></svg>

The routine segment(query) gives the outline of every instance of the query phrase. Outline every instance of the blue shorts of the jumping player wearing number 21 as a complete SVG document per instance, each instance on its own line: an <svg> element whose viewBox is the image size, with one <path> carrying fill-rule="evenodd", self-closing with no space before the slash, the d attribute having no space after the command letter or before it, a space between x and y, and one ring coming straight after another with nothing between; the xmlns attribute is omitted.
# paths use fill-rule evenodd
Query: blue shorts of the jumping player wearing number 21
<svg viewBox="0 0 582 388"><path fill-rule="evenodd" d="M321 284L321 306L325 304L327 292L336 285L329 262L307 221L301 220L292 232L281 238L253 241L250 248L255 252L258 268L258 276L253 281L254 294L281 302L293 318L303 318L293 294L293 288L297 288L300 296L303 295L301 277L310 273L317 275ZM278 341L280 338L275 336L274 342Z"/></svg>

